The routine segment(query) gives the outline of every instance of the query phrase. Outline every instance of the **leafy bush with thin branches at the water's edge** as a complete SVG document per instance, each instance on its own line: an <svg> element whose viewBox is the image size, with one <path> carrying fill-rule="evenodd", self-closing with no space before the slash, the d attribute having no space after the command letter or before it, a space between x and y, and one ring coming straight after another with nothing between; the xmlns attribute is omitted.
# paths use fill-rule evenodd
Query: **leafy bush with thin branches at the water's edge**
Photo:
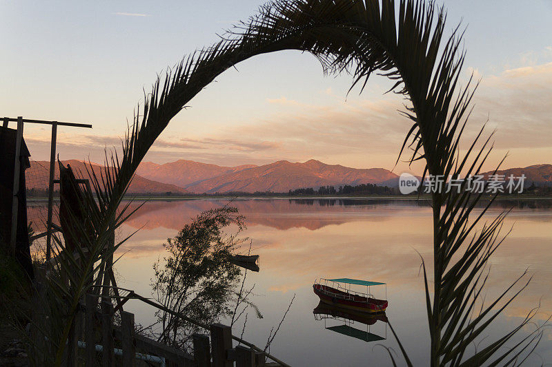
<svg viewBox="0 0 552 367"><path fill-rule="evenodd" d="M223 229L236 226L227 235ZM245 229L244 217L235 207L211 209L186 224L164 248L168 256L153 265L152 290L157 300L172 311L203 324L212 324L233 314L235 287L241 271L230 263L239 243L238 233ZM157 312L161 326L160 342L186 348L197 326L164 311Z"/></svg>

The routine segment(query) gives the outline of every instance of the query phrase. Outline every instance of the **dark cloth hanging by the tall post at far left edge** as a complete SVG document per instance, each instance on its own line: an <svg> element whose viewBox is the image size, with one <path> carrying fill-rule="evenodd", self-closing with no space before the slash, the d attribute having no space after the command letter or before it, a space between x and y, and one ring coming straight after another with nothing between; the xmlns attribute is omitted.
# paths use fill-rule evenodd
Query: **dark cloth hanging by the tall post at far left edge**
<svg viewBox="0 0 552 367"><path fill-rule="evenodd" d="M17 130L0 126L0 247L4 253L10 253L12 231L12 203L17 200L17 235L15 238L15 259L31 279L34 278L30 258L30 243L27 227L27 190L25 170L30 167L29 149L21 138L19 151L19 188L13 196L13 175L15 167L15 145Z"/></svg>

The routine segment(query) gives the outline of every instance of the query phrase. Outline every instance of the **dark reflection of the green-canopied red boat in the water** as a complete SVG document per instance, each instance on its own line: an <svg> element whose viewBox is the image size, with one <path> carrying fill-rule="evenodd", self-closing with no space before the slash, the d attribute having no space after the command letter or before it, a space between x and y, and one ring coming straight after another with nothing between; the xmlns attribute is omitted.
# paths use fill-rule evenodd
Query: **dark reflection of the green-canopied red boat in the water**
<svg viewBox="0 0 552 367"><path fill-rule="evenodd" d="M378 340L387 339L387 316L385 312L366 313L319 302L313 310L313 314L315 320L324 320L324 328L336 333L354 337L364 342L377 342ZM384 333L382 333L382 328L377 328L377 334L375 331L372 333L372 326L378 321L385 323Z"/></svg>

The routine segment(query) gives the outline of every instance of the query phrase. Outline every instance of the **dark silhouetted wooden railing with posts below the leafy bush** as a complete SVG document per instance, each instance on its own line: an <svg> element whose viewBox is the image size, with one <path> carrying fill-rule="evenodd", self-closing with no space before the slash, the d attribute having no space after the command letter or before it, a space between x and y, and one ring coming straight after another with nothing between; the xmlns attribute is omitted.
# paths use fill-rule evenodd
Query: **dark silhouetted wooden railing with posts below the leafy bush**
<svg viewBox="0 0 552 367"><path fill-rule="evenodd" d="M100 307L98 308L98 303ZM121 311L121 326L113 324L115 311L110 298L86 295L80 304L76 322L70 332L67 365L86 367L135 366L138 360L157 366L257 367L266 364L266 353L253 344L233 347L232 329L211 324L210 335L193 335L193 355L135 333L135 317ZM79 352L80 350L80 352ZM80 358L79 358L80 357Z"/></svg>

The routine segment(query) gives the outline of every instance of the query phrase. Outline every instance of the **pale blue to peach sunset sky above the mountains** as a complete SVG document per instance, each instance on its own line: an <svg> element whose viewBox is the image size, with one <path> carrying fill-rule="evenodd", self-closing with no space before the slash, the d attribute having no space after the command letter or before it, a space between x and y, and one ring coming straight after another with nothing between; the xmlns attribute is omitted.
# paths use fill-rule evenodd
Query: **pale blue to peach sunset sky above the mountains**
<svg viewBox="0 0 552 367"><path fill-rule="evenodd" d="M60 127L62 159L101 162L120 145L157 73L217 41L262 1L0 0L0 116L92 123ZM444 1L447 30L466 26L464 82L480 80L466 138L496 129L491 169L552 163L552 1ZM229 69L169 124L146 160L217 165L311 158L393 169L410 123L377 76L362 94L300 52ZM12 125L14 126L14 125ZM25 126L32 158L49 156L48 127ZM405 157L406 158L406 157ZM395 167L400 174L404 163ZM413 171L420 171L419 166Z"/></svg>

